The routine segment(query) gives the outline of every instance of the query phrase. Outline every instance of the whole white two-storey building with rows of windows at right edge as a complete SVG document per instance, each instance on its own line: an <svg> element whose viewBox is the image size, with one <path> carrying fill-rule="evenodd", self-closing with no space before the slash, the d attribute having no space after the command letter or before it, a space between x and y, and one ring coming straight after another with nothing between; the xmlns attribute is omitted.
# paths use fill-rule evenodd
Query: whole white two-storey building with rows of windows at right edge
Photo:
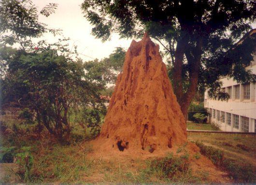
<svg viewBox="0 0 256 185"><path fill-rule="evenodd" d="M249 34L256 34L256 29ZM256 74L256 56L246 68ZM228 92L230 98L228 101L213 100L205 92L204 106L210 113L210 122L219 125L222 131L256 132L256 84L240 84L229 77L221 81L221 91Z"/></svg>

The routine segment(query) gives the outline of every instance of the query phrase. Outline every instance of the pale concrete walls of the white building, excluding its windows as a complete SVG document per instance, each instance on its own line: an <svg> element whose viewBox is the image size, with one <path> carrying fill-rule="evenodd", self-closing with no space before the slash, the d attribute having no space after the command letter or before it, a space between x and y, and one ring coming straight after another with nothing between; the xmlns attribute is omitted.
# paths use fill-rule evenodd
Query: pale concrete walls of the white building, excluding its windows
<svg viewBox="0 0 256 185"><path fill-rule="evenodd" d="M246 67L250 69L254 74L256 74L256 56L251 66ZM218 110L224 112L224 120L217 120L216 112L215 118L211 118L210 121L218 124L222 131L231 131L231 132L242 132L242 120L247 120L249 118L249 132L255 132L256 130L256 84L250 83L250 99L244 99L244 89L245 86L234 81L233 78L225 77L221 79L223 82L221 91L225 90L228 92L228 87L232 88L230 99L228 101L218 101L209 99L207 91L204 96L204 106L208 108L210 114L212 110ZM240 87L240 97L236 99L235 89ZM227 113L231 114L231 125L228 125ZM234 115L239 116L239 129L234 128ZM246 117L246 118L242 118Z"/></svg>

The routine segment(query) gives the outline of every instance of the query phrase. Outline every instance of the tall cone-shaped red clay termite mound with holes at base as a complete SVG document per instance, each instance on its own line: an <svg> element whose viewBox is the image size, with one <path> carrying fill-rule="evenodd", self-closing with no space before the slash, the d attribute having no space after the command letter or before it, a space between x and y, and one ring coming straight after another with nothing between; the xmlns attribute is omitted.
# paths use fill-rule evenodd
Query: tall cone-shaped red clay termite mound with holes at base
<svg viewBox="0 0 256 185"><path fill-rule="evenodd" d="M132 41L97 143L153 152L186 142L186 124L159 54L147 34Z"/></svg>

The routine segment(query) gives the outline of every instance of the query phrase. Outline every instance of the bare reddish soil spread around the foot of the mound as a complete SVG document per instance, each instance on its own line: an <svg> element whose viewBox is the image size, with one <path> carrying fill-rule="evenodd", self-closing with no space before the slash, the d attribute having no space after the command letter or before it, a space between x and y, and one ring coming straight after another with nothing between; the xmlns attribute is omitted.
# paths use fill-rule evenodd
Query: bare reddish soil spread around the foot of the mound
<svg viewBox="0 0 256 185"><path fill-rule="evenodd" d="M86 144L85 144L86 145ZM88 145L88 144L87 144ZM99 152L99 150L93 150L87 154L87 158L93 161L100 160L102 163L119 163L121 166L138 166L138 161L145 161L148 159L160 159L167 156L168 153L176 154L179 147L174 146L171 149L157 151L157 152L130 152L131 150L125 150L124 152L111 150L109 152ZM217 168L210 159L200 155L199 159L196 159L195 154L199 154L200 149L193 143L188 143L186 151L189 153L189 167L192 170L192 175L201 179L202 183L217 183L225 184L232 183L232 180L228 177L227 172L221 171ZM97 167L96 167L97 168ZM102 168L99 166L99 168ZM143 167L141 167L143 168ZM139 168L140 169L140 168ZM204 176L205 175L205 179ZM88 182L101 182L103 180L100 170L93 173L92 176L85 178Z"/></svg>

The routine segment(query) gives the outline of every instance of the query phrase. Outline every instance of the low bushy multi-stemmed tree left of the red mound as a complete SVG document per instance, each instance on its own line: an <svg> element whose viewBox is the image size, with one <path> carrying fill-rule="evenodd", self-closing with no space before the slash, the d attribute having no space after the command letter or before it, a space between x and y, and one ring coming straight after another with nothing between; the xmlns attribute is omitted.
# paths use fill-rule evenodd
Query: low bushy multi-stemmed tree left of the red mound
<svg viewBox="0 0 256 185"><path fill-rule="evenodd" d="M81 60L73 61L65 53L59 54L61 47L54 49L47 45L33 53L16 53L18 58L14 60L4 58L8 69L2 80L2 104L28 109L36 117L39 132L44 126L64 143L70 137L71 110L84 112L87 124L91 111L92 117L99 117L98 110L104 112L105 107L100 100L102 88L86 79ZM100 120L97 120L98 125L94 122L87 126L99 128Z"/></svg>

